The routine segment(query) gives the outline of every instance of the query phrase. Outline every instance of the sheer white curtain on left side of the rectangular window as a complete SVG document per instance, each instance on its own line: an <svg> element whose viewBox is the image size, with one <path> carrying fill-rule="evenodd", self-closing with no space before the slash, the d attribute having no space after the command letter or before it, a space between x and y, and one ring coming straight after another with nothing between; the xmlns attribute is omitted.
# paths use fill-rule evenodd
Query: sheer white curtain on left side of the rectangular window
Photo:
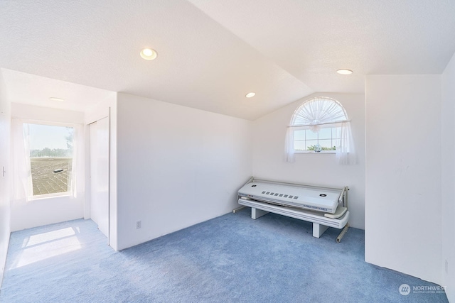
<svg viewBox="0 0 455 303"><path fill-rule="evenodd" d="M28 201L33 196L28 127L21 119L11 121L11 176L14 201Z"/></svg>

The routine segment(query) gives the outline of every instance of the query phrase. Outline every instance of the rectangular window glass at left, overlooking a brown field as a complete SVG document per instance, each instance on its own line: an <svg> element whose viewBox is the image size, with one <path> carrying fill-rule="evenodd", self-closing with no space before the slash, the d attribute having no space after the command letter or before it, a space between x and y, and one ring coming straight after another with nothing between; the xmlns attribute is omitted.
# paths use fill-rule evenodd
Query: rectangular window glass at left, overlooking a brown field
<svg viewBox="0 0 455 303"><path fill-rule="evenodd" d="M74 128L28 124L33 196L71 190Z"/></svg>

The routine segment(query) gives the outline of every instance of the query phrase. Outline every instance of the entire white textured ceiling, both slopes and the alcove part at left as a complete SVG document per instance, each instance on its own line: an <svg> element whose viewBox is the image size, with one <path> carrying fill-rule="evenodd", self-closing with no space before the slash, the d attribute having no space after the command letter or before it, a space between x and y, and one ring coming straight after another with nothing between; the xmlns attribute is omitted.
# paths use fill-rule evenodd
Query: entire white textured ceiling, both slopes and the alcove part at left
<svg viewBox="0 0 455 303"><path fill-rule="evenodd" d="M253 120L365 75L443 72L454 16L455 0L2 0L0 67L15 102L126 92Z"/></svg>

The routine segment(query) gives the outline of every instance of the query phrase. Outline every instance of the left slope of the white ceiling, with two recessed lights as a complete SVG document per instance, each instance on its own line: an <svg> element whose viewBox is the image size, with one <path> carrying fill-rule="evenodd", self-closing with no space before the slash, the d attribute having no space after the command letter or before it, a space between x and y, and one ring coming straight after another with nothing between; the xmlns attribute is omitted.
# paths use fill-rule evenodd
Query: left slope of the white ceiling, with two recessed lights
<svg viewBox="0 0 455 303"><path fill-rule="evenodd" d="M188 1L1 1L0 11L9 70L250 120L313 92ZM158 58L142 60L145 47Z"/></svg>

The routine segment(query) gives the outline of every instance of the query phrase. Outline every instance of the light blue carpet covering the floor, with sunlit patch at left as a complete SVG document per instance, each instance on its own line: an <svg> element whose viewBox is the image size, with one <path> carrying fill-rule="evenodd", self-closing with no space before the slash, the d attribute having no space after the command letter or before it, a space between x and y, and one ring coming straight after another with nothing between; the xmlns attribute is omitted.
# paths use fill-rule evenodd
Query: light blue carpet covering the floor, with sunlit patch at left
<svg viewBox="0 0 455 303"><path fill-rule="evenodd" d="M31 228L11 234L0 302L447 302L365 263L363 231L338 233L245 210L114 252L90 220Z"/></svg>

